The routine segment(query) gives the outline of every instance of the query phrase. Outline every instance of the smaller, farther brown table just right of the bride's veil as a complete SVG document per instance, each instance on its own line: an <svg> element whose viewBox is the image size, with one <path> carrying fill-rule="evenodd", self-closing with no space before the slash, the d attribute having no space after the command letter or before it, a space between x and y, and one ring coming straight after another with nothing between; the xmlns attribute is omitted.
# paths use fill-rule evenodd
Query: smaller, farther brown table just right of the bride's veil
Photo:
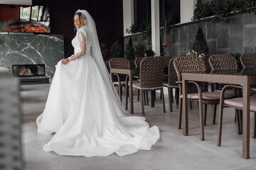
<svg viewBox="0 0 256 170"><path fill-rule="evenodd" d="M110 69L110 76L112 81L114 80L114 74L124 74L129 76L129 102L130 102L130 113L134 113L133 106L133 87L132 87L132 78L133 75L137 75L139 72L138 69Z"/></svg>

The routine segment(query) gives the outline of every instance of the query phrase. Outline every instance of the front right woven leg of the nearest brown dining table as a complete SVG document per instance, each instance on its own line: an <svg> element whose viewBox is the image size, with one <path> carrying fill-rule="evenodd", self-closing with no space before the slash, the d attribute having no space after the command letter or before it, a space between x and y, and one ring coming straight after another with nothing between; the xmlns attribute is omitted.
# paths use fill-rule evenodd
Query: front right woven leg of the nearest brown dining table
<svg viewBox="0 0 256 170"><path fill-rule="evenodd" d="M250 86L242 86L242 158L250 159Z"/></svg>

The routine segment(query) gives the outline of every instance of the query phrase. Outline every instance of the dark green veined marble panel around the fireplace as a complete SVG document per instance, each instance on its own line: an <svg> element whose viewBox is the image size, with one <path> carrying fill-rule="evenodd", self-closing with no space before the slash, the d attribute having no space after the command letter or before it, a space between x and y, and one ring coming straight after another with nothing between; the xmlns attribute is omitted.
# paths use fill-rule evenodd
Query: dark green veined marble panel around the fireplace
<svg viewBox="0 0 256 170"><path fill-rule="evenodd" d="M55 64L64 58L63 35L0 34L0 67L12 64L45 64L53 77Z"/></svg>

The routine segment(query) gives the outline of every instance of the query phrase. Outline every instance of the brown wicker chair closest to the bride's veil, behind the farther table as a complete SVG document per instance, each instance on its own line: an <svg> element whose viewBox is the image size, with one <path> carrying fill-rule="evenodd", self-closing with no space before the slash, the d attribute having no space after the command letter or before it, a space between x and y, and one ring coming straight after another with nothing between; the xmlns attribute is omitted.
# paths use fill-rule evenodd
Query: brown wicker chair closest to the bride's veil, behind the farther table
<svg viewBox="0 0 256 170"><path fill-rule="evenodd" d="M129 69L130 64L129 60L126 58L111 58L109 60L110 69ZM114 77L114 86L118 87L118 92L120 96L120 100L122 101L122 86L125 87L126 79L128 76L122 75L122 74L114 74L116 77Z"/></svg>

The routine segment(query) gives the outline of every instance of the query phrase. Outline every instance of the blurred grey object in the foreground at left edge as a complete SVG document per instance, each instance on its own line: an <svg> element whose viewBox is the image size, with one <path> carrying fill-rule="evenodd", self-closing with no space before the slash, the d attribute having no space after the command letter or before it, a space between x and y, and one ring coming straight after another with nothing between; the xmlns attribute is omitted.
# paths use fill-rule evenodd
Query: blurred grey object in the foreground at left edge
<svg viewBox="0 0 256 170"><path fill-rule="evenodd" d="M0 169L22 169L18 79L0 72Z"/></svg>

